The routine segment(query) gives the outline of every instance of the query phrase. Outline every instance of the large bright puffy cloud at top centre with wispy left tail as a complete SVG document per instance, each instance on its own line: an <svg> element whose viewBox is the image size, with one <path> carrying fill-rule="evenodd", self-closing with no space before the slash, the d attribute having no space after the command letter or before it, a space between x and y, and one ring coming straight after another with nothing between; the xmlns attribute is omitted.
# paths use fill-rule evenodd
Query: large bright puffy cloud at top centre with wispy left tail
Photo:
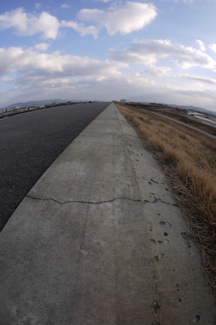
<svg viewBox="0 0 216 325"><path fill-rule="evenodd" d="M157 16L156 7L152 4L126 2L117 6L114 4L106 10L81 9L77 18L83 22L93 22L94 25L85 26L74 21L62 21L63 26L76 29L82 36L93 34L97 38L98 32L106 28L109 35L117 32L128 34L142 29Z"/></svg>

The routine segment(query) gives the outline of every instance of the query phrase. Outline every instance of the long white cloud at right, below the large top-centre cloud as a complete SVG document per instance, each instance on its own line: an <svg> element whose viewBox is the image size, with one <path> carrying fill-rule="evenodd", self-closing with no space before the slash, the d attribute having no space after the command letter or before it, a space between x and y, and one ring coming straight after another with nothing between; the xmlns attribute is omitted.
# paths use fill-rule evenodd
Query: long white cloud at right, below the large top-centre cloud
<svg viewBox="0 0 216 325"><path fill-rule="evenodd" d="M213 69L216 62L206 53L192 47L175 46L169 40L135 40L122 51L108 50L110 58L125 63L144 63L153 67L158 59L168 58L178 67L188 69L202 66Z"/></svg>

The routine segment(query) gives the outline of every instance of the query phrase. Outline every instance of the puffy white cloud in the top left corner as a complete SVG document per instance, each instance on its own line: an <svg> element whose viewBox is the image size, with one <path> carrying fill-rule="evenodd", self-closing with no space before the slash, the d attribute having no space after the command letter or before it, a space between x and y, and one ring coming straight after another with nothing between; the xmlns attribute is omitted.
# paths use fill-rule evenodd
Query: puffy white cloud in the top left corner
<svg viewBox="0 0 216 325"><path fill-rule="evenodd" d="M39 16L26 13L23 8L0 15L0 29L13 27L18 36L31 36L42 33L44 39L56 39L60 23L47 12Z"/></svg>

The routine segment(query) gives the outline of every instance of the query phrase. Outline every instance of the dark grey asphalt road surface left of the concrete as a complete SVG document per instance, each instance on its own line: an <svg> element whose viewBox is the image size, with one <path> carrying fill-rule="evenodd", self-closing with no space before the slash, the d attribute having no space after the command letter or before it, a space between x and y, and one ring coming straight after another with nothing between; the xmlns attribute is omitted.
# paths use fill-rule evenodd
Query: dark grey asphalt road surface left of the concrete
<svg viewBox="0 0 216 325"><path fill-rule="evenodd" d="M0 120L0 231L53 161L109 105L56 107Z"/></svg>

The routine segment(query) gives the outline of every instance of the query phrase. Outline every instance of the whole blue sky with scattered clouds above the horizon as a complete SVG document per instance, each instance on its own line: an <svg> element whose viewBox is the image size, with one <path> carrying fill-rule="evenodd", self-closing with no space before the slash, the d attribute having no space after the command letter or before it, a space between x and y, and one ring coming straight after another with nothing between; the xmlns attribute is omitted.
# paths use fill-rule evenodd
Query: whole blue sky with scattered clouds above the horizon
<svg viewBox="0 0 216 325"><path fill-rule="evenodd" d="M62 99L216 111L216 0L1 0L0 108Z"/></svg>

